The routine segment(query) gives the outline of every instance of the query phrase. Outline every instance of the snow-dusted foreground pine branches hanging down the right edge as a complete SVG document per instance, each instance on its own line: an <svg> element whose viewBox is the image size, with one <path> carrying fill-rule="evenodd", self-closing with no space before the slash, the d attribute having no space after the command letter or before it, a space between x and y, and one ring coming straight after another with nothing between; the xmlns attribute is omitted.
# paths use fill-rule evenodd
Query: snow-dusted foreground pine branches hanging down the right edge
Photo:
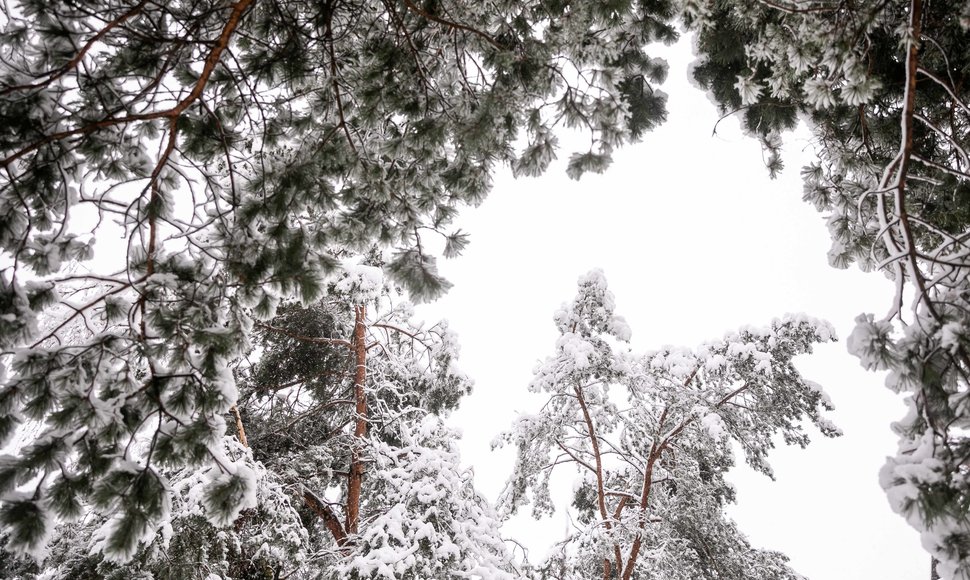
<svg viewBox="0 0 970 580"><path fill-rule="evenodd" d="M890 277L885 316L849 350L908 393L880 481L945 580L970 578L970 5L905 0L688 2L695 78L766 144L808 121L805 199L836 267ZM907 305L908 302L908 305Z"/></svg>

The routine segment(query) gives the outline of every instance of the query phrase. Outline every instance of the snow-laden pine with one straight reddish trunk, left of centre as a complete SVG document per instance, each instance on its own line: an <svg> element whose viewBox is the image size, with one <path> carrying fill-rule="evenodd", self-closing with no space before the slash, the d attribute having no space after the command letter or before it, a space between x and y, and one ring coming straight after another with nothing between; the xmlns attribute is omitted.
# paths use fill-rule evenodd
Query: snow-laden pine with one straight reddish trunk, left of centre
<svg viewBox="0 0 970 580"><path fill-rule="evenodd" d="M454 334L415 326L379 268L345 270L327 300L260 325L240 404L254 452L321 524L308 526L310 569L510 578L498 520L439 418L471 389Z"/></svg>

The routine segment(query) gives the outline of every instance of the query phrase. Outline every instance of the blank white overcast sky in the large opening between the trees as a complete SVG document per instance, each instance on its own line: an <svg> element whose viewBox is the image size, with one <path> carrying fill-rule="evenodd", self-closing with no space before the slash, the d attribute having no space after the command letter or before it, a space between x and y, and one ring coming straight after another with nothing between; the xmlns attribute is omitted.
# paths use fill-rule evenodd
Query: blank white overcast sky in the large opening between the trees
<svg viewBox="0 0 970 580"><path fill-rule="evenodd" d="M472 243L440 264L455 286L420 312L450 321L461 366L476 380L452 420L464 431L464 459L495 499L512 456L489 444L516 412L541 404L526 386L535 363L552 353L552 313L591 268L605 271L637 351L694 346L806 312L828 319L842 339L800 368L831 395L831 418L845 436L778 449L774 482L736 469L731 514L756 545L786 553L812 580L929 578L917 534L890 511L878 485L879 468L895 452L889 424L904 414L903 403L883 387L882 375L862 370L845 351L855 316L884 313L892 289L879 274L828 265L823 219L801 201L799 168L810 153L804 140L789 139L787 169L771 181L759 146L733 119L712 136L717 114L687 82L689 52L686 43L657 51L671 65L669 120L621 151L606 174L570 181L562 162L539 179L503 174L487 201L463 214ZM560 161L567 157L562 152ZM563 474L567 482L574 476ZM507 532L541 558L566 519L526 519Z"/></svg>

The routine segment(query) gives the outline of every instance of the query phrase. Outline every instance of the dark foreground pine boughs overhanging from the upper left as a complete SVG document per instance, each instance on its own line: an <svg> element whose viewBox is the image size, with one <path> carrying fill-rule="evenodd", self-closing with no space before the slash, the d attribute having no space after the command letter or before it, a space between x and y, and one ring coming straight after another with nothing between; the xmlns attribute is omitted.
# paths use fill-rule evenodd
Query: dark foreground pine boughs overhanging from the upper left
<svg viewBox="0 0 970 580"><path fill-rule="evenodd" d="M457 208L497 164L544 171L556 125L592 137L570 175L603 170L663 119L665 64L644 47L676 37L665 0L21 0L0 14L0 444L24 419L46 425L0 462L0 526L36 552L93 506L117 523L114 556L166 517L163 470L214 464L207 493L249 497L251 470L220 442L228 367L274 303L320 296L329 248L393 247L389 272L440 293L421 235L457 254ZM111 237L117 257L61 273ZM215 505L220 519L243 507Z"/></svg>

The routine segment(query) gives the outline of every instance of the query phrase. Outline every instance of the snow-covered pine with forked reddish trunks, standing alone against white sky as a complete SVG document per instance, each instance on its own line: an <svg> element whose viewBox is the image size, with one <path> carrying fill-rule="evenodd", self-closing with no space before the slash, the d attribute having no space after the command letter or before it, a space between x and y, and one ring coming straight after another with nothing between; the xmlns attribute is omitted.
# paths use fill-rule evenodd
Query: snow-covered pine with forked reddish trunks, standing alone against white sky
<svg viewBox="0 0 970 580"><path fill-rule="evenodd" d="M775 440L804 446L808 421L839 434L821 411L831 404L799 374L793 357L834 339L804 316L744 328L695 350L637 356L630 329L614 314L606 280L593 271L556 312L556 352L530 385L548 393L519 418L503 444L517 450L500 505L531 502L551 513L550 478L571 464L580 478L572 510L577 531L535 572L537 578L711 580L799 578L781 554L752 548L724 515L734 492L724 475L732 445L771 475Z"/></svg>

